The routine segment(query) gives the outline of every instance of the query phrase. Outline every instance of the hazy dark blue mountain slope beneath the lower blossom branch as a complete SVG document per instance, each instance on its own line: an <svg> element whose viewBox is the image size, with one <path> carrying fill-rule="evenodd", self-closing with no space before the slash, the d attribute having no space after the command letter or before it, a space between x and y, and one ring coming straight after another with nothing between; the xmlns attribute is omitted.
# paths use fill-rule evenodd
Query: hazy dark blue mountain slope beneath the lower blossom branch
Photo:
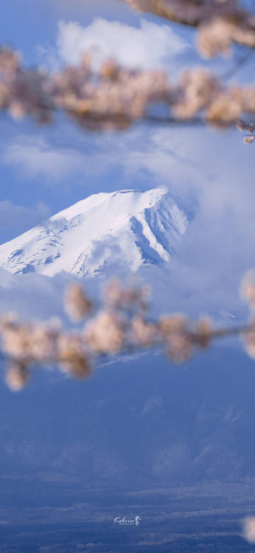
<svg viewBox="0 0 255 553"><path fill-rule="evenodd" d="M181 368L152 352L121 361L84 382L38 371L18 395L0 381L1 474L144 490L255 482L253 360L215 347Z"/></svg>

